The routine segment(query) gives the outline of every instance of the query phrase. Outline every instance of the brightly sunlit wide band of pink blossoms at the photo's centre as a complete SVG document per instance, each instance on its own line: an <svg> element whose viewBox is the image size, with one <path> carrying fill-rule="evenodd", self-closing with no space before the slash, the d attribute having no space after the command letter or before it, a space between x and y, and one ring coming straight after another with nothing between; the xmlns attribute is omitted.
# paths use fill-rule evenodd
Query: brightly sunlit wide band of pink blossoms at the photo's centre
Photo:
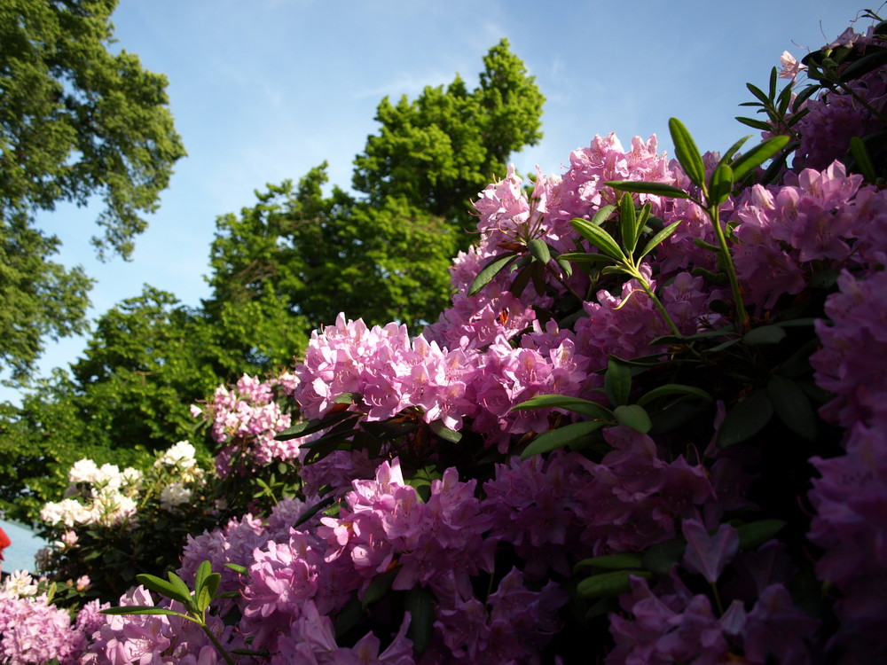
<svg viewBox="0 0 887 665"><path fill-rule="evenodd" d="M355 408L367 420L389 419L408 408L420 409L425 422L440 420L451 429L472 418L476 431L506 446L509 434L538 431L546 418L512 413L514 405L538 394L577 394L585 361L570 338L559 337L554 348L536 343L514 348L499 337L485 353L470 343L450 350L423 335L410 340L405 326L367 328L340 315L336 325L313 333L296 370L300 387L294 398L308 418L325 415L346 394L359 397Z"/></svg>

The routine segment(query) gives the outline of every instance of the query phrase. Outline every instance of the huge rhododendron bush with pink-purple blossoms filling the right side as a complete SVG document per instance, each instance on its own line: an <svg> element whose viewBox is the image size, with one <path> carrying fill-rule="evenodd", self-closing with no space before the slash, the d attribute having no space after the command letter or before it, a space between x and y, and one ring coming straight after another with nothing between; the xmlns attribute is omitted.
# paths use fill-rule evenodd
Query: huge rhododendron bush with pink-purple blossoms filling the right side
<svg viewBox="0 0 887 665"><path fill-rule="evenodd" d="M882 28L750 86L759 145L509 169L422 334L342 314L195 407L263 500L82 662L887 659Z"/></svg>

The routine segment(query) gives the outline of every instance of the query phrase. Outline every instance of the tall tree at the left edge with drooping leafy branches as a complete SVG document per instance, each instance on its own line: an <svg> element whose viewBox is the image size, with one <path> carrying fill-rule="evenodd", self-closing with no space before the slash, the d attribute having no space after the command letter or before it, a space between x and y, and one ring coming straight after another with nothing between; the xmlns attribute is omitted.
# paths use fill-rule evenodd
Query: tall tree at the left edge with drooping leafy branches
<svg viewBox="0 0 887 665"><path fill-rule="evenodd" d="M0 0L0 360L20 379L44 335L82 331L89 281L50 262L59 240L34 227L38 210L99 196L99 258L129 258L184 147L167 80L137 56L113 53L117 0ZM20 256L27 254L27 260ZM45 298L58 291L59 298Z"/></svg>

